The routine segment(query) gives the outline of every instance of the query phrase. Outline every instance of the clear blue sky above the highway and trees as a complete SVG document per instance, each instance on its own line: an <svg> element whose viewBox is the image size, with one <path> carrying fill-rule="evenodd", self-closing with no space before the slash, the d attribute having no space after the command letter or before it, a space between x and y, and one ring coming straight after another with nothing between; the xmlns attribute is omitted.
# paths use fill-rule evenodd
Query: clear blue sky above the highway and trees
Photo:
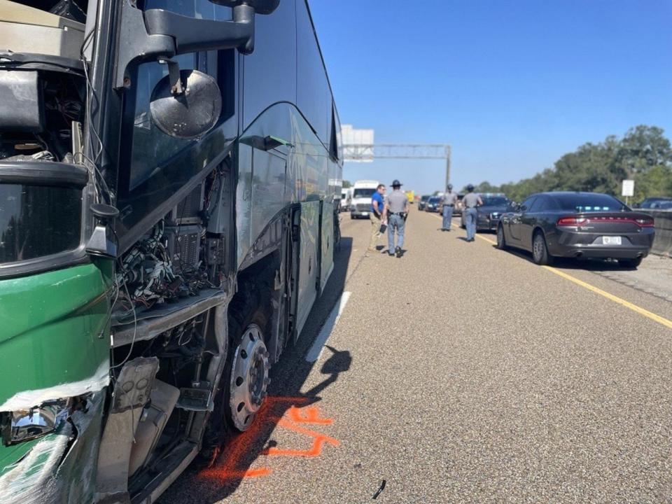
<svg viewBox="0 0 672 504"><path fill-rule="evenodd" d="M672 137L672 1L310 0L342 123L449 143L451 181L517 181L638 124ZM442 188L442 161L344 179Z"/></svg>

